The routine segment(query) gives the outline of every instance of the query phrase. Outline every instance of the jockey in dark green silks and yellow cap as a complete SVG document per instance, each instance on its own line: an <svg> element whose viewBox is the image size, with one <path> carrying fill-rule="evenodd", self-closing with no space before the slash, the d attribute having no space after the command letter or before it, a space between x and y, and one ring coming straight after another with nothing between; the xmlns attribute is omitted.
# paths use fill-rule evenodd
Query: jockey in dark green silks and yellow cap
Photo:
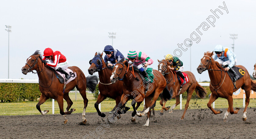
<svg viewBox="0 0 256 139"><path fill-rule="evenodd" d="M184 80L184 82L182 83L182 85L187 83L187 80L185 79L185 76L182 74L183 72L183 62L176 56L172 56L170 54L167 54L165 56L165 60L168 60L171 64L172 67L170 65L168 65L168 68L170 70L174 70L177 72L177 74Z"/></svg>

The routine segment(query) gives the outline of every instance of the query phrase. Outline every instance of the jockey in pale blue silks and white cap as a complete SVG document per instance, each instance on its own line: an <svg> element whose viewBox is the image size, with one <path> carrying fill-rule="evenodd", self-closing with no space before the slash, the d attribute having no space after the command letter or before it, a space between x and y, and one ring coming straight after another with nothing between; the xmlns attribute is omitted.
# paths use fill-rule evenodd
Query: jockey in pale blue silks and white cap
<svg viewBox="0 0 256 139"><path fill-rule="evenodd" d="M233 70L233 66L236 66L236 55L234 52L232 52L228 48L223 48L222 45L217 45L214 48L215 54L212 56L214 60L219 58L218 61L220 65L223 65L225 68L225 71L229 71L235 75L235 79L238 80L239 76L237 73Z"/></svg>

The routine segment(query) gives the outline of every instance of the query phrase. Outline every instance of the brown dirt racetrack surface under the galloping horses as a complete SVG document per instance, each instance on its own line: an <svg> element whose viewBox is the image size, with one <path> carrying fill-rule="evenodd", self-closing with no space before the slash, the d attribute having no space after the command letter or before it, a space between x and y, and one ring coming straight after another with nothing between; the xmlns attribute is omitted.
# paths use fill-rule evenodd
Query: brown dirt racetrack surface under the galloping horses
<svg viewBox="0 0 256 139"><path fill-rule="evenodd" d="M223 117L227 109L222 110L222 114L214 115L209 109L188 109L184 120L179 120L183 110L173 110L172 114L165 111L163 116L156 111L156 120L151 117L148 127L142 126L146 117L135 116L132 123L131 110L114 123L108 121L108 127L108 113L104 118L86 113L86 125L80 124L82 114L78 113L68 115L67 124L60 114L0 116L0 138L256 138L256 108L247 109L245 122L243 108L238 114L229 114L226 123Z"/></svg>

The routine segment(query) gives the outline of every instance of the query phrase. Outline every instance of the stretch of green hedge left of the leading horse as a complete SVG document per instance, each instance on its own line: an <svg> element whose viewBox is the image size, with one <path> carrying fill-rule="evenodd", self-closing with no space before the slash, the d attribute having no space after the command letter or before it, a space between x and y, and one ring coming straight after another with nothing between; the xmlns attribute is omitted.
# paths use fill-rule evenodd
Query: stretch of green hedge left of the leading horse
<svg viewBox="0 0 256 139"><path fill-rule="evenodd" d="M34 101L40 96L38 83L0 83L1 102Z"/></svg>

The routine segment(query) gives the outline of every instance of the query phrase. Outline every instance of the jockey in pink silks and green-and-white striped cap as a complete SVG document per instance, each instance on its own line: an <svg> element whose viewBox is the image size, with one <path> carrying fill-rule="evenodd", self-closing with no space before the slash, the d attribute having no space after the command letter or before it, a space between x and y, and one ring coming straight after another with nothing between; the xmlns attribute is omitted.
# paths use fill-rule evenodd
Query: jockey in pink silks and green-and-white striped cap
<svg viewBox="0 0 256 139"><path fill-rule="evenodd" d="M148 83L148 74L145 70L147 70L148 65L151 65L153 63L153 59L151 59L144 52L137 53L135 50L130 50L126 59L133 62L133 66L135 66L135 68L137 68L141 72L142 76L144 76L146 79L146 83ZM143 68L143 65L145 68Z"/></svg>

